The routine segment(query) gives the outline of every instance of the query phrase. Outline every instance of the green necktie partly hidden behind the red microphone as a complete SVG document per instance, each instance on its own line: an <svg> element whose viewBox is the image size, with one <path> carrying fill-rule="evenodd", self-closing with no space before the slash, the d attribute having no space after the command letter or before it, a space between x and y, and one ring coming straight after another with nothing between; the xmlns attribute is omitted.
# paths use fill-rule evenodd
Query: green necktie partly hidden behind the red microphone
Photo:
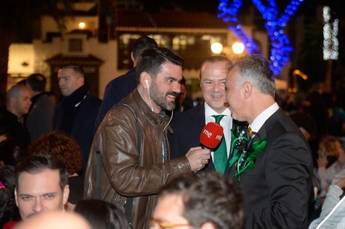
<svg viewBox="0 0 345 229"><path fill-rule="evenodd" d="M215 122L218 124L224 116L225 115L212 115L212 117L215 119ZM220 174L224 174L227 164L226 141L224 135L221 139L218 148L213 152L213 164L215 171L217 171Z"/></svg>

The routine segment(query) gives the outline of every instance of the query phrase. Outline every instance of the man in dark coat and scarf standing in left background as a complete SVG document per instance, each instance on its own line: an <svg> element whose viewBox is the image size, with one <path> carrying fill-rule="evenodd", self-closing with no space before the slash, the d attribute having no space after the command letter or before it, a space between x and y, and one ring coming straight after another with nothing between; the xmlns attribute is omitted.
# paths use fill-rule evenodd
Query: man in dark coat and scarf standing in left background
<svg viewBox="0 0 345 229"><path fill-rule="evenodd" d="M60 67L57 80L63 99L55 106L53 130L63 131L75 139L82 152L84 171L101 100L90 95L84 83L84 71L77 64L69 63Z"/></svg>

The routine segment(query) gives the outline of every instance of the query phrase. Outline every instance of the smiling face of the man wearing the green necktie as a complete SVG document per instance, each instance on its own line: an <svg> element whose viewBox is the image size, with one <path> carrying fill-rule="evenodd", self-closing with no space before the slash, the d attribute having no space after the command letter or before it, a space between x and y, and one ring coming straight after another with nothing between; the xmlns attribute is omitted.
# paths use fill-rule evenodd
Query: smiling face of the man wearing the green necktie
<svg viewBox="0 0 345 229"><path fill-rule="evenodd" d="M226 61L206 62L200 69L200 86L207 105L217 113L225 109Z"/></svg>

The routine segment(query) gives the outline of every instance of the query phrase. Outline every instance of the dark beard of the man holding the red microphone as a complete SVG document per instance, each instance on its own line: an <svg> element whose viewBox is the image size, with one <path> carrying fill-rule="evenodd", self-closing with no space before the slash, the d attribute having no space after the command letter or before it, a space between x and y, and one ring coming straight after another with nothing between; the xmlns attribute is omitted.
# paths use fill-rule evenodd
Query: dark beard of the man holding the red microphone
<svg viewBox="0 0 345 229"><path fill-rule="evenodd" d="M157 104L162 110L172 111L175 109L175 99L171 101L166 101L168 95L178 96L178 93L169 91L164 94L158 90L157 84L152 81L151 87L149 88L149 93L152 101Z"/></svg>

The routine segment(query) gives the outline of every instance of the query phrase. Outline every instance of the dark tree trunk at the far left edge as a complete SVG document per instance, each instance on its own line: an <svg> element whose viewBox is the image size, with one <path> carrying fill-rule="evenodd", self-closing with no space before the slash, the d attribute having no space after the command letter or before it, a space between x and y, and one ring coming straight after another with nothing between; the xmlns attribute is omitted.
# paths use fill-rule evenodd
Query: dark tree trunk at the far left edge
<svg viewBox="0 0 345 229"><path fill-rule="evenodd" d="M6 29L0 28L0 93L6 96L7 68L10 35Z"/></svg>

